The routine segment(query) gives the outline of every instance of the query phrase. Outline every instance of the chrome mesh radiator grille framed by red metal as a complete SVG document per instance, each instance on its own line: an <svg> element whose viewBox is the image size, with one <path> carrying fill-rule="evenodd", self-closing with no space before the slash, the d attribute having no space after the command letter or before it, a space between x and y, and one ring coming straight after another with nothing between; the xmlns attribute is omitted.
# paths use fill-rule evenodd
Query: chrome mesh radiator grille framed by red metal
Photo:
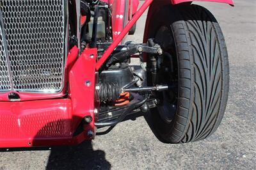
<svg viewBox="0 0 256 170"><path fill-rule="evenodd" d="M66 10L65 0L0 0L0 91L63 89Z"/></svg>

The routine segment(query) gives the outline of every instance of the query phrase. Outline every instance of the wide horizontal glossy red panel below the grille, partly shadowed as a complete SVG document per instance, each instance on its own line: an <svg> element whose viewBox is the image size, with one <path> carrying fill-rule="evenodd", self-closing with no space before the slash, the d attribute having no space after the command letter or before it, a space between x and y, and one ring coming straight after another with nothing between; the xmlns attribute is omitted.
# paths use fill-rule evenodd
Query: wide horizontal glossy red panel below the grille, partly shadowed
<svg viewBox="0 0 256 170"><path fill-rule="evenodd" d="M69 99L0 102L0 108L0 147L29 147L38 139L72 138Z"/></svg>

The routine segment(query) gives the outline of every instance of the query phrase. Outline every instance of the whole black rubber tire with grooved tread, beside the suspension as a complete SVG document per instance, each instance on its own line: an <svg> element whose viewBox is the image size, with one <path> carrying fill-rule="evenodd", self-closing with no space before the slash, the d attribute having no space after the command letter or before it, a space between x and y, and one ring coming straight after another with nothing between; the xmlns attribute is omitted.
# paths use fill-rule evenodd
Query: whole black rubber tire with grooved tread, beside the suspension
<svg viewBox="0 0 256 170"><path fill-rule="evenodd" d="M161 104L166 105L161 101L150 113L152 128L164 143L205 139L220 125L228 99L228 54L220 26L208 10L195 4L164 6L154 16L157 17L152 19L149 38L156 38L160 27L170 29L173 39L169 45L175 49L174 66L179 80L174 92L177 100L171 104L175 110L161 109ZM157 43L166 49L166 43ZM148 84L164 84L166 77L152 82L151 62L147 61ZM163 111L173 114L172 121L163 119Z"/></svg>

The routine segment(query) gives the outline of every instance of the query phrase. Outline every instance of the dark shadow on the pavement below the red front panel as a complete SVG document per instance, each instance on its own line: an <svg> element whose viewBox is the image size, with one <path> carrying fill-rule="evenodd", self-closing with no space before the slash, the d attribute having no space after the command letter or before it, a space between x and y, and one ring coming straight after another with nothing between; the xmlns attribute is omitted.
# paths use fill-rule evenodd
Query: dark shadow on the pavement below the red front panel
<svg viewBox="0 0 256 170"><path fill-rule="evenodd" d="M52 148L46 169L110 169L102 150L93 150L92 141L79 146Z"/></svg>

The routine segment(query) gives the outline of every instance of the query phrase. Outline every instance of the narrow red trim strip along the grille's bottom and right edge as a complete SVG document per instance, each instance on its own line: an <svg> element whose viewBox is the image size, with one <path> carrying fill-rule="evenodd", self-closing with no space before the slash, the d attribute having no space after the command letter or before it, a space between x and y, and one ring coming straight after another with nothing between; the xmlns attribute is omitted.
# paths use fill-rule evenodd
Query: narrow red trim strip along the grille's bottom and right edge
<svg viewBox="0 0 256 170"><path fill-rule="evenodd" d="M71 68L72 65L74 65L74 61L76 60L76 58L78 57L78 53L79 50L77 47L73 47L70 52L68 53L68 60L67 60L67 68ZM68 69L65 69L66 73L68 73ZM67 76L65 77L65 86L63 89L67 88L66 84L67 84ZM0 93L0 102L4 101L4 102L9 102L9 98L8 95L10 93L17 93L19 94L20 97L20 101L28 101L28 100L42 100L42 99L50 99L50 98L61 98L64 97L66 95L66 91L61 91L60 93L23 93L23 92L19 92L19 91L8 91L6 93Z"/></svg>

